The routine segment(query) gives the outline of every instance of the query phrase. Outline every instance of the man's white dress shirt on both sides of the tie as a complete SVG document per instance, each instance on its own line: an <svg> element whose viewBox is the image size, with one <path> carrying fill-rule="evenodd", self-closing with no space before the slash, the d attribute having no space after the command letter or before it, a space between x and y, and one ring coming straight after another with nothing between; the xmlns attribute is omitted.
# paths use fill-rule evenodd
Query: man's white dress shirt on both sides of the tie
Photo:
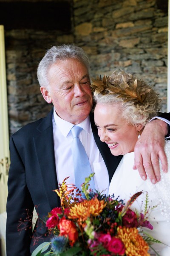
<svg viewBox="0 0 170 256"><path fill-rule="evenodd" d="M63 179L69 177L66 182L68 184L75 184L73 158L71 151L71 142L73 139L71 128L73 126L74 124L59 118L54 109L53 135L58 183L62 183ZM78 126L83 128L79 134L79 139L85 147L92 172L95 173L94 182L96 190L100 192L105 190L104 194L108 194L108 170L95 143L91 129L90 118L86 118L82 123L78 124Z"/></svg>

